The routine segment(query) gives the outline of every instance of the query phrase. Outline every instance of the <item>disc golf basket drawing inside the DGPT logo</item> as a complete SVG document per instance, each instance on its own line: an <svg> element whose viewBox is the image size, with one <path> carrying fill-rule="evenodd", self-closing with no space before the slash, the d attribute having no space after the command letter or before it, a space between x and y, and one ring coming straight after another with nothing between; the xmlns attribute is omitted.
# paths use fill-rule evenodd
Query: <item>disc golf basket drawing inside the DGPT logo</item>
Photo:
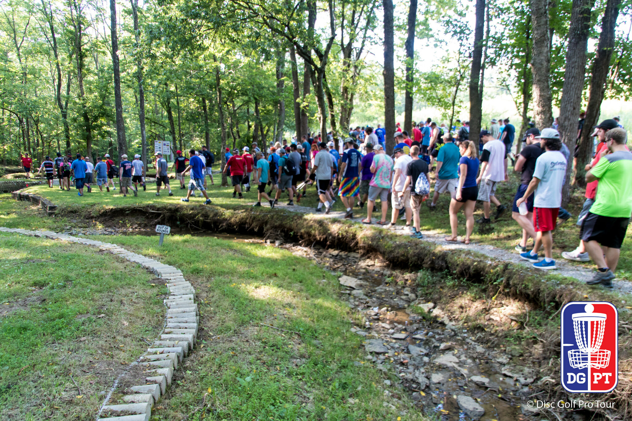
<svg viewBox="0 0 632 421"><path fill-rule="evenodd" d="M610 364L610 350L602 350L605 313L595 313L595 306L586 304L584 312L573 314L573 330L578 350L568 351L568 361L574 369L603 369ZM591 329L592 328L592 329Z"/></svg>

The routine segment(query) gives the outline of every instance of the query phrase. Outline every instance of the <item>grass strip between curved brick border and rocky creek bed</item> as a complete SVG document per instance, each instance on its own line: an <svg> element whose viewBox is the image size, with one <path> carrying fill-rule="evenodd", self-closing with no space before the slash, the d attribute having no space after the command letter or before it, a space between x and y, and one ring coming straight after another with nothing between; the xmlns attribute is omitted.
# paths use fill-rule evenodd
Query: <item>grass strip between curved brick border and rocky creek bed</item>
<svg viewBox="0 0 632 421"><path fill-rule="evenodd" d="M200 299L199 346L152 419L423 419L407 393L384 384L396 384L392 373L365 362L336 276L319 266L283 249L214 237L171 236L162 247L157 237L109 241L180 268Z"/></svg>

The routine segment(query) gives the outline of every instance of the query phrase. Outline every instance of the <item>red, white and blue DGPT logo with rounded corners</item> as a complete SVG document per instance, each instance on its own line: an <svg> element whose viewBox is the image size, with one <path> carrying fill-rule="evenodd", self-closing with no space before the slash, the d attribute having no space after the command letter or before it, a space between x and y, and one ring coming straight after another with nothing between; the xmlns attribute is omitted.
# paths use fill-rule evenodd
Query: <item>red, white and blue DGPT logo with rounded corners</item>
<svg viewBox="0 0 632 421"><path fill-rule="evenodd" d="M569 392L609 392L617 386L619 316L609 302L569 302L562 308L562 386Z"/></svg>

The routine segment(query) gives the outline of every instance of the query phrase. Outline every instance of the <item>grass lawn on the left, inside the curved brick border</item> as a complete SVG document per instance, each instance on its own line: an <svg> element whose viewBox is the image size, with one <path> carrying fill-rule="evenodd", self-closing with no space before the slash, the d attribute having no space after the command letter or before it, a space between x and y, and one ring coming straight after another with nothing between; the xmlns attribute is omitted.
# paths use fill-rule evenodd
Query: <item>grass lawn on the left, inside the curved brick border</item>
<svg viewBox="0 0 632 421"><path fill-rule="evenodd" d="M96 249L0 234L0 418L94 419L162 327L152 279Z"/></svg>

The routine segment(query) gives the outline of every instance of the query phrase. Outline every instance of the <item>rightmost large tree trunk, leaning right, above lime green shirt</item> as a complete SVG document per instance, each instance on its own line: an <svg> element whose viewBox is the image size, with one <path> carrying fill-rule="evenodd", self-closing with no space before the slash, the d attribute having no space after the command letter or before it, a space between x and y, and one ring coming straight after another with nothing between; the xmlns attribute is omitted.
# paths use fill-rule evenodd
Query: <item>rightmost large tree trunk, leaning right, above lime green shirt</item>
<svg viewBox="0 0 632 421"><path fill-rule="evenodd" d="M610 69L612 50L614 49L615 29L621 0L608 0L605 4L605 13L601 21L601 35L599 45L595 54L595 61L592 65L592 78L590 80L590 97L586 107L586 119L584 129L581 131L580 148L578 151L577 168L575 181L578 186L586 186L586 163L590 162L592 156L593 141L590 137L592 127L597 125L601 102L604 100L605 83Z"/></svg>

